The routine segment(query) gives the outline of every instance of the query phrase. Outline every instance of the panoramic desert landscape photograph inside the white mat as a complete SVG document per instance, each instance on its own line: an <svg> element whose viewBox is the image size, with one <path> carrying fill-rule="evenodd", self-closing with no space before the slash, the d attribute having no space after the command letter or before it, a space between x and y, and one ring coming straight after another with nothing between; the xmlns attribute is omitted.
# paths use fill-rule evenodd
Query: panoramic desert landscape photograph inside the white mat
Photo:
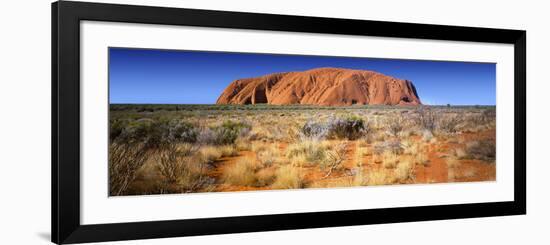
<svg viewBox="0 0 550 245"><path fill-rule="evenodd" d="M496 64L109 48L109 195L496 180Z"/></svg>

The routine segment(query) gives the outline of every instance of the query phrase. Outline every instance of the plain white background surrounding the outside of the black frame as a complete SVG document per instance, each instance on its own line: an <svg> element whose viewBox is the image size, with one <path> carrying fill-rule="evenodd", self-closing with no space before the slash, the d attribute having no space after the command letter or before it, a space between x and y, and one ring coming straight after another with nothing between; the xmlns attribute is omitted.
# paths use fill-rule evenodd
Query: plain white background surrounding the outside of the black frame
<svg viewBox="0 0 550 245"><path fill-rule="evenodd" d="M115 1L106 1L115 2ZM550 22L545 1L120 0L119 3L527 30L526 216L278 231L112 244L548 244ZM48 244L50 2L0 13L0 244Z"/></svg>

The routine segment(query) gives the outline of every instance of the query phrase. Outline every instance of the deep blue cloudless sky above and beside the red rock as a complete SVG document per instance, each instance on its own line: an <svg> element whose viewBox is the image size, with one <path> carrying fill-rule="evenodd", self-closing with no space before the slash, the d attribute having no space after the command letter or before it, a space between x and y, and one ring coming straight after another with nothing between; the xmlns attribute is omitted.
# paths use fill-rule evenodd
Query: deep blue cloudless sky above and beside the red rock
<svg viewBox="0 0 550 245"><path fill-rule="evenodd" d="M493 63L109 48L112 104L214 104L232 81L319 67L413 82L423 104L495 105Z"/></svg>

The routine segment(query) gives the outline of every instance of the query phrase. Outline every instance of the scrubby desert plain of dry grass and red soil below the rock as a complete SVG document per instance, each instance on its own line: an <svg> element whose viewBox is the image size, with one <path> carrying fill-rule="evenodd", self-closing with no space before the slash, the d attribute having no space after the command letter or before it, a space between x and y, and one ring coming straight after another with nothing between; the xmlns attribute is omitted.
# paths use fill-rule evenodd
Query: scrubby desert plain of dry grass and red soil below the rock
<svg viewBox="0 0 550 245"><path fill-rule="evenodd" d="M113 196L496 175L494 107L111 105L110 116Z"/></svg>

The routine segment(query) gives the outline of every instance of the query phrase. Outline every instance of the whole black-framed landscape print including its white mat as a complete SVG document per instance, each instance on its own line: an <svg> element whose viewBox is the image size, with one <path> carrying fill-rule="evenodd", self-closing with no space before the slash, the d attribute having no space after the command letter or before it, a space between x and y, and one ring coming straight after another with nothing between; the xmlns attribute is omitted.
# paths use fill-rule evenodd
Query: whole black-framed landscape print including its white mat
<svg viewBox="0 0 550 245"><path fill-rule="evenodd" d="M55 2L52 241L525 214L525 38Z"/></svg>

